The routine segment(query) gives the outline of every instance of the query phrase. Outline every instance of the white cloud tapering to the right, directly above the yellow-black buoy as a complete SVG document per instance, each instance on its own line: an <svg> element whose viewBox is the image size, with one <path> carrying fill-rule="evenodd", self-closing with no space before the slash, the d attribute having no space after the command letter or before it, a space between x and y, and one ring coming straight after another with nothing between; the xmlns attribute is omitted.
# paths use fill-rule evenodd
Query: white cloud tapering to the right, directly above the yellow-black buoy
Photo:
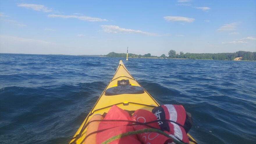
<svg viewBox="0 0 256 144"><path fill-rule="evenodd" d="M156 33L148 33L148 32L143 32L141 30L125 29L125 28L120 28L119 26L101 25L101 27L103 31L106 33L137 33L137 34L143 34L143 35L157 36Z"/></svg>

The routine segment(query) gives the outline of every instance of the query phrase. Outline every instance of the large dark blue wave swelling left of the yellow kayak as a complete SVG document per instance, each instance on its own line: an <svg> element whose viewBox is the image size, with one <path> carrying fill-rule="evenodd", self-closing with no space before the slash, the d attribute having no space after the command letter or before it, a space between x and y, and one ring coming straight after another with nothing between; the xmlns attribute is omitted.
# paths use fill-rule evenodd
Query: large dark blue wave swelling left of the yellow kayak
<svg viewBox="0 0 256 144"><path fill-rule="evenodd" d="M49 138L44 139L47 136L61 137L70 129L74 131L81 123L77 123L76 127L73 127L72 123L78 121L79 117L80 122L85 118L105 86L104 82L90 82L52 87L1 89L2 142L22 143L19 140L23 140L26 143L45 143L49 141ZM81 113L84 113L82 118ZM21 129L29 135L24 136ZM51 134L52 132L55 134ZM38 138L40 134L43 134L44 138ZM6 139L14 136L15 139Z"/></svg>

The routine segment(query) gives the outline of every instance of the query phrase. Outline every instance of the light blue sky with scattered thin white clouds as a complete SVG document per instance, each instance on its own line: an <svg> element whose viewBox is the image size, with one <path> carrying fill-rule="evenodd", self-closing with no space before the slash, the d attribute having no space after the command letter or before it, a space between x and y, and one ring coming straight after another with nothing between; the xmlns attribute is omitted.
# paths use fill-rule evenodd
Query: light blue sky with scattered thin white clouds
<svg viewBox="0 0 256 144"><path fill-rule="evenodd" d="M0 0L0 53L256 51L255 0Z"/></svg>

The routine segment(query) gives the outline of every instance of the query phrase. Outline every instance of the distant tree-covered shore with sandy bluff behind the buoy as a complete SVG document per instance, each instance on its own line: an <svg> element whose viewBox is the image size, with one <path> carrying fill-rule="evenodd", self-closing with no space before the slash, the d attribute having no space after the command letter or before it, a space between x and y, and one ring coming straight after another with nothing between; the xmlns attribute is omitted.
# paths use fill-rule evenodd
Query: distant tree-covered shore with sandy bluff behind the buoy
<svg viewBox="0 0 256 144"><path fill-rule="evenodd" d="M200 60L249 60L256 61L256 52L250 51L237 51L235 53L176 53L175 50L170 50L168 57L162 54L160 57L153 56L150 53L145 55L136 55L128 53L130 58L171 58L171 59L200 59ZM111 52L105 57L126 57L126 53L115 53Z"/></svg>

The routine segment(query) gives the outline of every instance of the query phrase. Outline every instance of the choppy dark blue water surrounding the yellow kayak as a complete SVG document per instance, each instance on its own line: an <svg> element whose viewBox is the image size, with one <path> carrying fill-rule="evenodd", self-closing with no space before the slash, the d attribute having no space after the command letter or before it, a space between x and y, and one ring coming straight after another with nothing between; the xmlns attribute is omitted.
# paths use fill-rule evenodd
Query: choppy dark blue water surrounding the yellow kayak
<svg viewBox="0 0 256 144"><path fill-rule="evenodd" d="M0 54L0 143L67 143L123 60L199 143L256 143L256 62Z"/></svg>

